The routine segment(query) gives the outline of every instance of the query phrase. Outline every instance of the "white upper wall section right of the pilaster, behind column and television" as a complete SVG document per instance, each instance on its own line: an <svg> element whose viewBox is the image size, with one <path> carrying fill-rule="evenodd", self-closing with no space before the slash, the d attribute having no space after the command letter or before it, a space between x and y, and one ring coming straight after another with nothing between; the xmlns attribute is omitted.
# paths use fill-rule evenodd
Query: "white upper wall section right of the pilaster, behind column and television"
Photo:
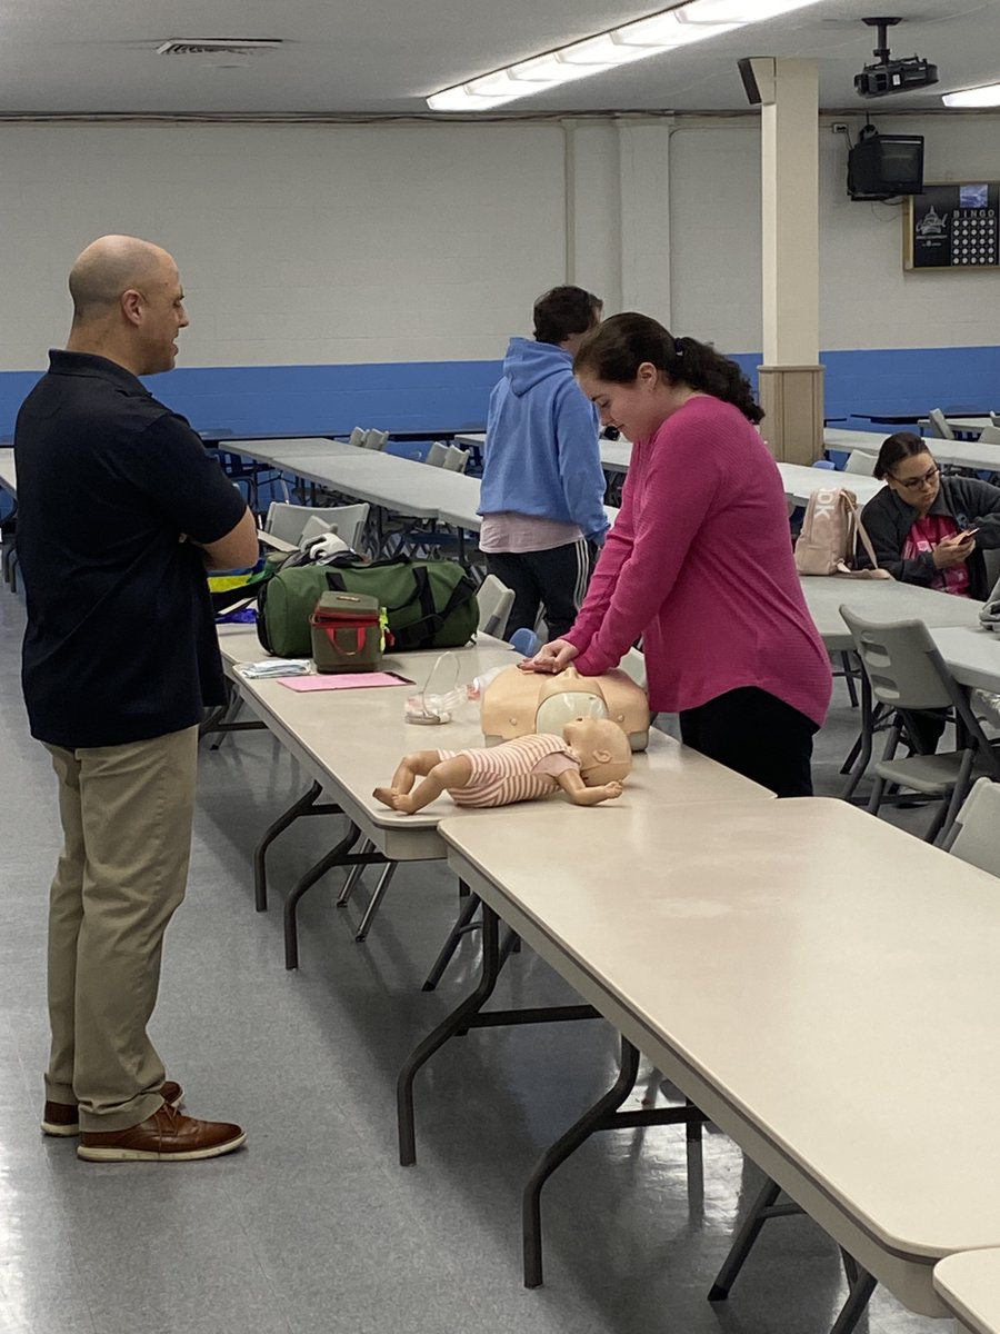
<svg viewBox="0 0 1000 1334"><path fill-rule="evenodd" d="M928 181L1000 179L1000 117L873 119L885 133L924 135ZM851 121L852 139L863 123ZM819 145L820 347L1000 342L1000 272L904 271L903 208L848 199L847 143L828 119ZM757 352L759 124L680 121L669 159L672 327L731 352Z"/></svg>

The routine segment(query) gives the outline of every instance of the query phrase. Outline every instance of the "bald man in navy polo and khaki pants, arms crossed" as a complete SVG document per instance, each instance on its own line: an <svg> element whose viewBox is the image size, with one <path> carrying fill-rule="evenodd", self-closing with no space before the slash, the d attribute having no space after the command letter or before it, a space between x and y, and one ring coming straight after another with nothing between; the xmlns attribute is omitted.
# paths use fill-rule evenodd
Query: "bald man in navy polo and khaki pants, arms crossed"
<svg viewBox="0 0 1000 1334"><path fill-rule="evenodd" d="M137 379L173 368L188 323L173 259L101 236L69 292L65 351L49 352L15 435L24 698L64 836L41 1129L92 1162L213 1158L247 1137L177 1110L147 1025L187 884L197 724L223 700L205 570L253 564L256 524Z"/></svg>

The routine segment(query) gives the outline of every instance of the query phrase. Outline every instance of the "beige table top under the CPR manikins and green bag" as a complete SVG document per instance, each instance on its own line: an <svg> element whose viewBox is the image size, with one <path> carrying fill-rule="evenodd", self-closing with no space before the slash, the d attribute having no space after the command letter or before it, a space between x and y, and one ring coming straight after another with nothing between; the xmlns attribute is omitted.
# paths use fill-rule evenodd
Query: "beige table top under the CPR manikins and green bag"
<svg viewBox="0 0 1000 1334"><path fill-rule="evenodd" d="M483 812L457 810L443 796L416 815L399 815L372 796L372 788L392 778L396 764L408 751L461 750L483 744L479 706L468 703L456 711L451 723L421 727L404 720L407 695L424 686L433 667L435 651L387 654L384 666L416 684L381 690L333 690L296 692L276 680L245 680L239 662L263 660L253 627L219 627L219 643L229 675L239 682L240 694L304 764L307 771L335 794L351 819L360 824L381 851L393 860L429 860L444 856L437 838L437 823L445 815L457 819L477 818ZM475 648L453 650L459 659L459 680L468 682L491 667L517 662L509 644L483 638ZM451 678L444 667L445 688ZM635 756L628 778L628 800L608 803L621 806L619 820L629 819L628 811L641 807L652 823L656 811L667 802L772 800L772 794L731 770L680 746L663 732L652 730L649 750ZM557 799L559 800L559 799ZM533 804L533 803L528 803ZM549 803L543 803L548 807ZM520 807L519 807L520 808ZM495 812L488 812L495 814Z"/></svg>

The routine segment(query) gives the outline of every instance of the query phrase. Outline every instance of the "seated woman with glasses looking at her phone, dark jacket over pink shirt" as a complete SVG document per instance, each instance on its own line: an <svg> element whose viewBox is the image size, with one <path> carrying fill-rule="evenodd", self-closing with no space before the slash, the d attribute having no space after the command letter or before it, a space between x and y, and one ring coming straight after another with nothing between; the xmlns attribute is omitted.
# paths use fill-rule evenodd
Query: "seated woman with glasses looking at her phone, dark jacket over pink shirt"
<svg viewBox="0 0 1000 1334"><path fill-rule="evenodd" d="M908 431L883 443L875 476L885 482L861 511L879 564L901 583L983 602L983 550L1000 547L1000 487L943 478L927 440ZM859 566L871 564L857 552Z"/></svg>

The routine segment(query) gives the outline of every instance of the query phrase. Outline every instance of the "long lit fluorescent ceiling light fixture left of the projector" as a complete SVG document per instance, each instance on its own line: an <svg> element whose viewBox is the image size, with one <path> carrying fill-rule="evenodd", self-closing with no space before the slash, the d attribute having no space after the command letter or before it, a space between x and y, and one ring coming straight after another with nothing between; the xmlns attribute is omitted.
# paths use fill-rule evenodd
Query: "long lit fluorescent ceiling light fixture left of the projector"
<svg viewBox="0 0 1000 1334"><path fill-rule="evenodd" d="M431 111L489 111L547 88L616 69L633 60L763 23L819 0L688 0L687 4L532 56L427 99ZM948 99L945 97L945 101Z"/></svg>

